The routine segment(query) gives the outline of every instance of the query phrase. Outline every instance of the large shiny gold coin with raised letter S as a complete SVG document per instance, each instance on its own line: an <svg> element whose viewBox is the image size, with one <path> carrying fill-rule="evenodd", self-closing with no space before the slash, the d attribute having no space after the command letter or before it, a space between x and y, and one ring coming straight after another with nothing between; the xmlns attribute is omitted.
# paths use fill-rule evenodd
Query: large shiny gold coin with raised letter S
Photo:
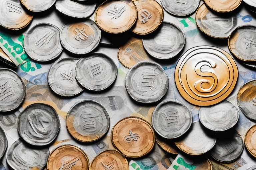
<svg viewBox="0 0 256 170"><path fill-rule="evenodd" d="M234 59L213 46L197 46L187 50L175 68L175 83L188 102L210 106L221 102L232 92L238 79Z"/></svg>

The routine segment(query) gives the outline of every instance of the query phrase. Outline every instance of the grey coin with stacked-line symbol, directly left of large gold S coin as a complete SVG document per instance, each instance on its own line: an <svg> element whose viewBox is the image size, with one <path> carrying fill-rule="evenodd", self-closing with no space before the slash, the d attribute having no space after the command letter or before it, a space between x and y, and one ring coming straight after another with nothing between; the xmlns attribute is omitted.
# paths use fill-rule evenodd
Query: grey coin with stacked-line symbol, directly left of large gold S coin
<svg viewBox="0 0 256 170"><path fill-rule="evenodd" d="M164 69L156 63L141 61L127 73L125 87L129 95L141 103L160 100L168 90L169 79Z"/></svg>

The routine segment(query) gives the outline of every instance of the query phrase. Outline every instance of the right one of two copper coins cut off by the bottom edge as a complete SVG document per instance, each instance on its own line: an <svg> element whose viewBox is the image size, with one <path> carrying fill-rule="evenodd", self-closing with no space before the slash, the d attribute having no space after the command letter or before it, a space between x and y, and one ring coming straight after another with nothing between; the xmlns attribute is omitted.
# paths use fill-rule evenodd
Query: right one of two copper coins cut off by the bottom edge
<svg viewBox="0 0 256 170"><path fill-rule="evenodd" d="M129 170L127 159L115 149L107 149L93 158L90 170Z"/></svg>

